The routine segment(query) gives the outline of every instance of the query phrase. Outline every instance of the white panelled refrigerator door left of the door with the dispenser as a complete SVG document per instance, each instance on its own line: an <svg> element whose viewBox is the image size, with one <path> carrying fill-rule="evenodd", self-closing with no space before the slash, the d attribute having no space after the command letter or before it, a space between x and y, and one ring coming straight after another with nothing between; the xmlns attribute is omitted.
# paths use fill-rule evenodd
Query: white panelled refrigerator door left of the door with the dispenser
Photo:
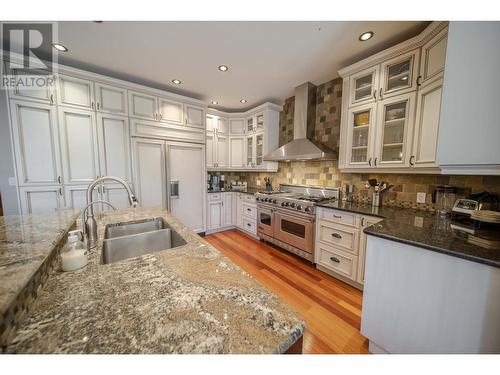
<svg viewBox="0 0 500 375"><path fill-rule="evenodd" d="M132 159L139 206L167 208L165 142L133 138Z"/></svg>

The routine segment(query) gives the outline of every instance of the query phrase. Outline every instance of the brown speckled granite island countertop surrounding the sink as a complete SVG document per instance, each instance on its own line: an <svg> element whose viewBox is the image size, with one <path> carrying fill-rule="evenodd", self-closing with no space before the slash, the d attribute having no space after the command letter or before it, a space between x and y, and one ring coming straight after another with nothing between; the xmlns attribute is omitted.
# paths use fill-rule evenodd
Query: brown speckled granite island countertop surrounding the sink
<svg viewBox="0 0 500 375"><path fill-rule="evenodd" d="M106 224L163 217L186 245L52 270L9 353L282 353L303 318L201 237L160 209L129 209Z"/></svg>

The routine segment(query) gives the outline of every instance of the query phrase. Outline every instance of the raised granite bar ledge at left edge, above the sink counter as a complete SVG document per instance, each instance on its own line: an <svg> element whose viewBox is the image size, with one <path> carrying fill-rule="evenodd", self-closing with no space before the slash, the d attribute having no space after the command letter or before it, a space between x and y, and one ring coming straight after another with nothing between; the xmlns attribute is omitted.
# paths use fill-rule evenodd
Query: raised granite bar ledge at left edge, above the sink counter
<svg viewBox="0 0 500 375"><path fill-rule="evenodd" d="M78 211L0 217L0 317L66 235Z"/></svg>

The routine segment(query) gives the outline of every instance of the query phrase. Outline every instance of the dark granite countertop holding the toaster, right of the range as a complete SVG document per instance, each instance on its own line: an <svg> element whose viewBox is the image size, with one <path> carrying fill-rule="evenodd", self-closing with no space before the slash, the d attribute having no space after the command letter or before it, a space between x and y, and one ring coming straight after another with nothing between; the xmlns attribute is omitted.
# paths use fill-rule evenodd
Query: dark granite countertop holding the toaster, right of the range
<svg viewBox="0 0 500 375"><path fill-rule="evenodd" d="M442 217L430 211L372 207L355 202L335 201L319 206L384 218L381 222L365 228L366 234L500 267L500 249L487 249L471 243L472 235L456 229L457 223L449 217ZM477 231L475 236L500 241L498 231Z"/></svg>

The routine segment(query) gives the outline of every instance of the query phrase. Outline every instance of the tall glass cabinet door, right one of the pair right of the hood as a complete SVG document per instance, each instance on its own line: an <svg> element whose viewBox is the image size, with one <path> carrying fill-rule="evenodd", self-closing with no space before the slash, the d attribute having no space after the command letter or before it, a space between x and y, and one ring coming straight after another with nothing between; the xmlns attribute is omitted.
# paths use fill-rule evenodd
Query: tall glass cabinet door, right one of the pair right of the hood
<svg viewBox="0 0 500 375"><path fill-rule="evenodd" d="M403 94L379 103L377 150L375 167L401 167L409 163L411 145L408 134L413 132L416 94Z"/></svg>

